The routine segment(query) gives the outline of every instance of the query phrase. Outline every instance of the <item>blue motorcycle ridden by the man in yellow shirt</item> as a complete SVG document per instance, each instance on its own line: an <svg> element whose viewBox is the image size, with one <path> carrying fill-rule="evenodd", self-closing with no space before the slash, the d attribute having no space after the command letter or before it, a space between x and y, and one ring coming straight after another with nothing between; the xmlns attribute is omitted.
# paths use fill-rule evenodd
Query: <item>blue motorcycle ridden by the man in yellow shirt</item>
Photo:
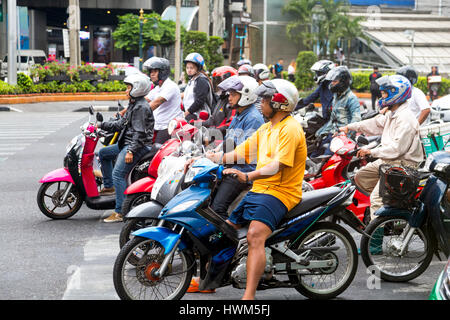
<svg viewBox="0 0 450 320"><path fill-rule="evenodd" d="M121 299L181 299L197 272L200 290L245 288L248 229L234 229L209 207L223 169L206 158L197 160L185 176L189 187L162 209L161 224L133 233L114 264ZM354 192L349 185L303 194L266 241L258 290L295 288L308 298L330 299L351 284L358 265L356 244L346 228L324 219L336 216L363 232L360 220L345 211Z"/></svg>

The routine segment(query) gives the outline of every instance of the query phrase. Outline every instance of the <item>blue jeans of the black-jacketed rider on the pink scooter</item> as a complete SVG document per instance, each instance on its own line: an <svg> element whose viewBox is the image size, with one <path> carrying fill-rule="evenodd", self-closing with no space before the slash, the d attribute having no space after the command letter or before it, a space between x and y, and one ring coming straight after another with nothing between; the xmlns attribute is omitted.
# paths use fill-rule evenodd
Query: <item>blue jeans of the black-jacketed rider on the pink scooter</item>
<svg viewBox="0 0 450 320"><path fill-rule="evenodd" d="M101 162L103 184L105 188L114 186L116 190L116 208L115 212L122 212L122 203L125 198L124 192L127 188L127 174L130 173L133 166L139 161L144 154L150 151L150 147L141 148L138 152L133 154L133 162L126 163L125 156L127 154L128 146L123 146L119 149L117 143L101 148L98 155ZM114 164L114 160L116 161Z"/></svg>

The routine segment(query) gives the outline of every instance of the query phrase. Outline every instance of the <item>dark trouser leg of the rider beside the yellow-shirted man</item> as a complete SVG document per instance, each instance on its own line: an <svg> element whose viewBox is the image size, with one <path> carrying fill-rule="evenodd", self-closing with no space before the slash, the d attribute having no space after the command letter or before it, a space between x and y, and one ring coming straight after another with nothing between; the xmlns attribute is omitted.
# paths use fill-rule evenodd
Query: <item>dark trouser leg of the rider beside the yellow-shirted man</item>
<svg viewBox="0 0 450 320"><path fill-rule="evenodd" d="M219 185L211 208L224 219L228 219L228 208L247 187L247 184L240 183L236 178L225 176Z"/></svg>

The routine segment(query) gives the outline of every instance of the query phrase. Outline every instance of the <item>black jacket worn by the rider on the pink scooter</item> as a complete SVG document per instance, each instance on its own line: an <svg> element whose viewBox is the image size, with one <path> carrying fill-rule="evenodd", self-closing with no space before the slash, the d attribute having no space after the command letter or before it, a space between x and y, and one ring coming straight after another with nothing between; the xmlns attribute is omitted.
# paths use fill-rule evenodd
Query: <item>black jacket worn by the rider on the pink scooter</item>
<svg viewBox="0 0 450 320"><path fill-rule="evenodd" d="M155 118L152 109L144 97L130 102L127 112L118 120L103 122L102 130L109 132L120 131L117 143L122 149L128 145L128 150L135 153L144 146L151 147L153 141L153 127Z"/></svg>

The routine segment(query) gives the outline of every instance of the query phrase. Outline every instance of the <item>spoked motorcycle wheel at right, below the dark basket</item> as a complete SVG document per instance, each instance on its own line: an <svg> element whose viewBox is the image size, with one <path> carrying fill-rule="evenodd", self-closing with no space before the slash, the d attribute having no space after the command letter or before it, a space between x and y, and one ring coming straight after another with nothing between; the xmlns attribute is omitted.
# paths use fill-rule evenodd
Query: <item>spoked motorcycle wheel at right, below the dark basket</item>
<svg viewBox="0 0 450 320"><path fill-rule="evenodd" d="M401 247L410 225L402 217L377 217L365 232L370 236L361 237L361 258L372 273L391 282L405 282L417 278L431 263L434 241L422 228L414 230L406 244Z"/></svg>

